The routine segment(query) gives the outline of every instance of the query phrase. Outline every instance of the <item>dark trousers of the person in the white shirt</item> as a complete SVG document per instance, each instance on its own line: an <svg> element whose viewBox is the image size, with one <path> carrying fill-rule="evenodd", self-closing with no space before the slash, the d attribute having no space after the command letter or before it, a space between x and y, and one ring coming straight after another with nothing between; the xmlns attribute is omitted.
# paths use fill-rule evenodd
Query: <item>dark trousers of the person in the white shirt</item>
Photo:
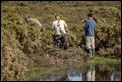
<svg viewBox="0 0 122 82"><path fill-rule="evenodd" d="M66 50L67 49L67 40L66 35L53 35L54 44L58 46L61 49Z"/></svg>

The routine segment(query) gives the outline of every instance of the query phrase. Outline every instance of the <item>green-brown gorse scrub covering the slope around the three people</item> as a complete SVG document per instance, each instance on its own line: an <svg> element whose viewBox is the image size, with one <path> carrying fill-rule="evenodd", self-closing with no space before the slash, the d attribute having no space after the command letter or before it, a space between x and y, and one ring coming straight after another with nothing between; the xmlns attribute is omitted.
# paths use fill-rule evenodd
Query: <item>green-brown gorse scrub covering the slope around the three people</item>
<svg viewBox="0 0 122 82"><path fill-rule="evenodd" d="M51 66L87 60L84 51L84 23L89 11L97 20L97 56L121 57L120 1L2 1L1 2L1 80L23 80L24 71L34 66ZM67 51L53 45L51 29L55 15L68 24ZM37 18L44 32L28 26L24 17Z"/></svg>

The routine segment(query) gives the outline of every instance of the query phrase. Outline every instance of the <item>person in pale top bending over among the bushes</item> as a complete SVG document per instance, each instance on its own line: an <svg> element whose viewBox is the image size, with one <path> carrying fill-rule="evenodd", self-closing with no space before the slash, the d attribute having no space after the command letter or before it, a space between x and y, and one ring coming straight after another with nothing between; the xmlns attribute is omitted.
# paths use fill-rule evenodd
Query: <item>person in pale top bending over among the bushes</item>
<svg viewBox="0 0 122 82"><path fill-rule="evenodd" d="M31 17L25 17L25 21L30 25L30 24L36 24L38 27L40 27L41 31L44 31L45 28L42 26L42 24L37 20L36 18L31 18Z"/></svg>

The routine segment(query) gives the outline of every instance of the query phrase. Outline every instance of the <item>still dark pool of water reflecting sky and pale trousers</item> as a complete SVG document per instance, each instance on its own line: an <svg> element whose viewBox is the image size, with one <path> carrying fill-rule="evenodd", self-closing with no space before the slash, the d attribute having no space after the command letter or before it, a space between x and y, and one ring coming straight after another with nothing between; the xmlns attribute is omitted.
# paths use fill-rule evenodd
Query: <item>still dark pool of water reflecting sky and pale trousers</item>
<svg viewBox="0 0 122 82"><path fill-rule="evenodd" d="M55 68L56 69L56 68ZM121 81L121 64L88 64L56 71L31 72L28 81ZM29 78L30 77L30 78Z"/></svg>

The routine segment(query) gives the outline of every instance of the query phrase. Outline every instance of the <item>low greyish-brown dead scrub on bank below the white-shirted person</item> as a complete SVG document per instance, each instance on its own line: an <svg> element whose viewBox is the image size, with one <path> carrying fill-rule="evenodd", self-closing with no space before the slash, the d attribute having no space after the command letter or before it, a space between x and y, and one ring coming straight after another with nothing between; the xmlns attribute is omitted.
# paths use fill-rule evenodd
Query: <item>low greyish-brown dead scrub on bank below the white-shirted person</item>
<svg viewBox="0 0 122 82"><path fill-rule="evenodd" d="M69 48L67 51L61 49L47 49L43 55L36 55L29 61L28 66L60 66L86 61L88 54L80 48Z"/></svg>

